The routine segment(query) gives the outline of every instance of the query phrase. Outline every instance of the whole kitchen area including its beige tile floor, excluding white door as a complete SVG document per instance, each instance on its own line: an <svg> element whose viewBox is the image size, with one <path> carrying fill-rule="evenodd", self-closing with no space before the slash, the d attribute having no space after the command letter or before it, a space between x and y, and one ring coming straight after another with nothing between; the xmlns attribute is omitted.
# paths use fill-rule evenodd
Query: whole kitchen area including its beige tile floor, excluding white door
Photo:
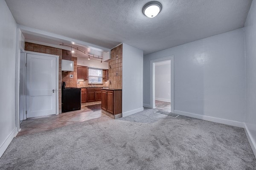
<svg viewBox="0 0 256 170"><path fill-rule="evenodd" d="M38 48L39 47L39 48ZM122 44L113 48L109 59L102 62L81 57L79 51L25 42L26 51L44 52L51 49L59 56L59 114L24 119L18 136L62 127L107 115L122 117ZM37 50L37 51L35 51Z"/></svg>

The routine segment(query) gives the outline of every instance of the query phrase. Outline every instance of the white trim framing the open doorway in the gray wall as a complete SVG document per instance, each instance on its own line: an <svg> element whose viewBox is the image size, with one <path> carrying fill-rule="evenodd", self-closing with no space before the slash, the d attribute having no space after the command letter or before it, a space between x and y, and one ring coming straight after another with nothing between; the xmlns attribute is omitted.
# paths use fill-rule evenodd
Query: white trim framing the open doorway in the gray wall
<svg viewBox="0 0 256 170"><path fill-rule="evenodd" d="M174 113L174 56L150 60L150 107L155 105L155 63L171 60L171 113Z"/></svg>

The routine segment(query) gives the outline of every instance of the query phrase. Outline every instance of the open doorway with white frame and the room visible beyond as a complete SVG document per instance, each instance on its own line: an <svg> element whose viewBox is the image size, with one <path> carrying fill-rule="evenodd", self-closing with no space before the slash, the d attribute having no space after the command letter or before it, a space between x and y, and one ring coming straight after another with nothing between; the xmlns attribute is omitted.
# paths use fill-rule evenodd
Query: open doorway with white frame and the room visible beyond
<svg viewBox="0 0 256 170"><path fill-rule="evenodd" d="M150 106L174 113L174 56L150 62Z"/></svg>

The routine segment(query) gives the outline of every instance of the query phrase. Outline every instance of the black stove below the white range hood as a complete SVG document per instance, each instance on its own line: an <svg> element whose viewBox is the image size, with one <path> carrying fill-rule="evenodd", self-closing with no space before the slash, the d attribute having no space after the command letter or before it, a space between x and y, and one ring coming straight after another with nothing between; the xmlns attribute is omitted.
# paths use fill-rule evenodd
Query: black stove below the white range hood
<svg viewBox="0 0 256 170"><path fill-rule="evenodd" d="M62 112L81 110L81 88L65 88L65 82L61 85Z"/></svg>

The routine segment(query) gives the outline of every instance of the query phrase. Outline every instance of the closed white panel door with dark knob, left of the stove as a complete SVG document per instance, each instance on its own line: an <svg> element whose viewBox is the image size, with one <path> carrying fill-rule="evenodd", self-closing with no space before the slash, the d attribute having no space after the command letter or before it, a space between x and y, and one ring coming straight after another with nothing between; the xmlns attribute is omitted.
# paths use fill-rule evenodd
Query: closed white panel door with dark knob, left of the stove
<svg viewBox="0 0 256 170"><path fill-rule="evenodd" d="M56 114L56 58L27 54L27 118Z"/></svg>

